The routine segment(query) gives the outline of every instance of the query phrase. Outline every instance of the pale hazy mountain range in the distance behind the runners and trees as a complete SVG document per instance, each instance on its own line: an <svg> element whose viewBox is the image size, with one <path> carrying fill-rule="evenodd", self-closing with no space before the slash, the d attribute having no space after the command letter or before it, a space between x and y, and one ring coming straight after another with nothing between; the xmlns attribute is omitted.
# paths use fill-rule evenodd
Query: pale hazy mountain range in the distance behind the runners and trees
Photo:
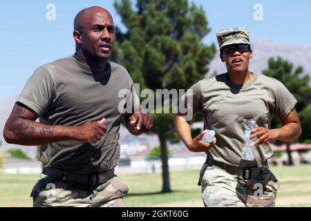
<svg viewBox="0 0 311 221"><path fill-rule="evenodd" d="M252 40L252 49L254 57L250 61L249 70L261 74L262 70L267 68L267 61L270 57L283 57L294 64L294 67L303 66L305 74L311 75L311 46L297 47L279 44L267 39ZM213 61L209 66L209 76L216 70L218 74L225 73L225 64L220 61L219 51L215 55ZM7 82L10 84L10 82ZM21 148L30 157L35 159L37 153L37 148L35 146L17 146L12 144L7 144L3 140L3 127L12 111L12 106L17 99L17 95L12 95L7 99L0 99L0 140L2 145L0 151L5 152L10 148ZM149 148L158 145L158 139L155 135L142 135L135 137L126 131L126 128L122 127L120 131L120 144L127 145L126 148L131 150L131 148L140 148L141 145L147 146Z"/></svg>

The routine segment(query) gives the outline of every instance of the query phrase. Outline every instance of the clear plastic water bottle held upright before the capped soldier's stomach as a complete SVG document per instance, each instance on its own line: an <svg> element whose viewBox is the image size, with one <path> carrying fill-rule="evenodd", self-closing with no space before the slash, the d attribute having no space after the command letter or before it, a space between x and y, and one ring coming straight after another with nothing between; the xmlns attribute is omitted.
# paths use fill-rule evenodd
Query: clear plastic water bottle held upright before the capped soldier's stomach
<svg viewBox="0 0 311 221"><path fill-rule="evenodd" d="M249 140L249 136L251 135L252 129L258 127L254 119L251 119L249 123L247 124L244 132L244 147L242 151L242 160L250 160L253 161L255 159L255 148L252 146L256 140L258 140L257 137L253 137L252 140Z"/></svg>

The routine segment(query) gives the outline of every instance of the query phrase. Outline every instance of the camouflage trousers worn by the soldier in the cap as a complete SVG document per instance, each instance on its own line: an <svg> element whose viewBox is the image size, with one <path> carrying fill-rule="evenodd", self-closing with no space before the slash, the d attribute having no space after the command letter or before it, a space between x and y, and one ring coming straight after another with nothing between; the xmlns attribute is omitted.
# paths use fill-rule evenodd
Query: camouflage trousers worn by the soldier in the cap
<svg viewBox="0 0 311 221"><path fill-rule="evenodd" d="M206 207L272 207L280 183L268 167L258 177L244 180L216 166L207 166L201 186Z"/></svg>

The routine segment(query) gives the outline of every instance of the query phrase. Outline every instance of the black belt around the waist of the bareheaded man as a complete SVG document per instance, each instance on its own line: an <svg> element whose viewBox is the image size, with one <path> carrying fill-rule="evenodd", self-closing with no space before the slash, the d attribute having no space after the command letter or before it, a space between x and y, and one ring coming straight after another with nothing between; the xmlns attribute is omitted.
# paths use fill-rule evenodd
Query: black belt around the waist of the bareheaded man
<svg viewBox="0 0 311 221"><path fill-rule="evenodd" d="M43 172L45 175L49 177L53 177L55 179L59 179L66 182L75 182L78 184L87 184L89 186L97 186L99 184L103 184L107 182L112 177L115 177L114 169L107 172L95 172L88 174L81 173L73 173L69 171L62 171L55 168L46 168Z"/></svg>

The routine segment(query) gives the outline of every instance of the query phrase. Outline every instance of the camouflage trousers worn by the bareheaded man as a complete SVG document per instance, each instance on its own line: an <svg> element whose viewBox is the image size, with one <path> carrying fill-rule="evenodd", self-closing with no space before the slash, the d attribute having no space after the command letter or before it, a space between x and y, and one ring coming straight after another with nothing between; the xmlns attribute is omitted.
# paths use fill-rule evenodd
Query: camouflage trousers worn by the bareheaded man
<svg viewBox="0 0 311 221"><path fill-rule="evenodd" d="M119 177L113 177L104 184L88 186L55 180L41 174L32 189L34 207L120 207L128 186Z"/></svg>

